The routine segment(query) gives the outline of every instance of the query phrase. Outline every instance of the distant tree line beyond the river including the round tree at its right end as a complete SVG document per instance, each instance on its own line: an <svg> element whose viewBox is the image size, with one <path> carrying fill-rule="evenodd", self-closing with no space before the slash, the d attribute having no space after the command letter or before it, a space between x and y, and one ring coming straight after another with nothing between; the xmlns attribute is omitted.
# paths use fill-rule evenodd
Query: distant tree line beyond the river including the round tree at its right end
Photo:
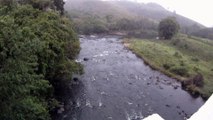
<svg viewBox="0 0 213 120"><path fill-rule="evenodd" d="M180 29L175 17L168 17L155 23L146 18L116 18L112 15L105 17L83 14L71 16L74 28L80 34L108 33L113 31L126 32L129 36L140 38L171 39Z"/></svg>

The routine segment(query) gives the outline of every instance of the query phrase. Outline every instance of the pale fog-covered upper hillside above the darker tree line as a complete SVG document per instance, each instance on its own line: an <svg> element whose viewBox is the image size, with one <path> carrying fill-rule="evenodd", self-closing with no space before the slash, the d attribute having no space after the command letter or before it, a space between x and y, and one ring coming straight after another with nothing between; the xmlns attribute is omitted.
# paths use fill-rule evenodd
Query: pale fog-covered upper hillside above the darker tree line
<svg viewBox="0 0 213 120"><path fill-rule="evenodd" d="M104 26L116 24L117 21L125 18L134 21L146 21L156 29L157 24L163 18L168 16L176 17L181 26L181 32L192 33L199 29L205 28L203 25L170 12L156 3L136 3L131 1L100 1L100 0L68 0L65 9L74 19L81 21L82 18L95 18ZM108 19L108 21L107 21ZM109 20L110 19L110 20ZM75 22L74 22L75 23ZM107 25L106 25L107 24Z"/></svg>

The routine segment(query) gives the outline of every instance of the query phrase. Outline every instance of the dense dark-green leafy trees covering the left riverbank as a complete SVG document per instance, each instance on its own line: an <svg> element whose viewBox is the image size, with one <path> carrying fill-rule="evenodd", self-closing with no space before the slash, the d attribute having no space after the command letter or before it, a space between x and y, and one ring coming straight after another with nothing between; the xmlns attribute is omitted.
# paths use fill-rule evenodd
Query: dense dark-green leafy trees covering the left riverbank
<svg viewBox="0 0 213 120"><path fill-rule="evenodd" d="M52 3L0 1L1 120L51 119L55 88L66 87L81 70L72 24Z"/></svg>

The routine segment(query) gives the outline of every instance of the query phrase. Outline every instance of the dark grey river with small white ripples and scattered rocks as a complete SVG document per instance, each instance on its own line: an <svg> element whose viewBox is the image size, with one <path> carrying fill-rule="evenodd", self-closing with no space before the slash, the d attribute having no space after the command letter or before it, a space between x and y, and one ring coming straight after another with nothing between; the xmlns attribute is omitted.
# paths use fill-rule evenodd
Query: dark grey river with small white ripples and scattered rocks
<svg viewBox="0 0 213 120"><path fill-rule="evenodd" d="M85 73L70 85L57 120L142 120L153 113L184 120L204 104L144 64L119 37L87 36L80 42L77 61Z"/></svg>

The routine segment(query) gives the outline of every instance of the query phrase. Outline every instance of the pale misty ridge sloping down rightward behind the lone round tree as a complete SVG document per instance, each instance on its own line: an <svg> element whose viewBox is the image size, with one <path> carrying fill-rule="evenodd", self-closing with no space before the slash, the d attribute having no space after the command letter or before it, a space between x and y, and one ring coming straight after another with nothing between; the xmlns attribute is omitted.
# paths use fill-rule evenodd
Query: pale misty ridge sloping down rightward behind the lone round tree
<svg viewBox="0 0 213 120"><path fill-rule="evenodd" d="M197 24L199 27L203 27L201 24L181 15L178 15L175 12L170 12L156 3L139 4L128 1L120 1L114 3L122 6L123 8L126 8L131 13L135 13L138 16L147 17L155 21L160 21L167 16L175 16L181 26L193 26L194 24Z"/></svg>

